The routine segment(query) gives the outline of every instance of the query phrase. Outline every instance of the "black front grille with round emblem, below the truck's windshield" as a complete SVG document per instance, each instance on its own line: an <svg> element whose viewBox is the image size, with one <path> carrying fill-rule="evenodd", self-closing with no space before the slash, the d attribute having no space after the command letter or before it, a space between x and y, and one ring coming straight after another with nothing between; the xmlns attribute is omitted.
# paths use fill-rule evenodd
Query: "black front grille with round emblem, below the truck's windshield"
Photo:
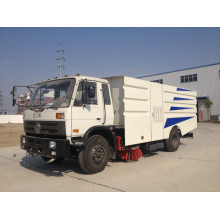
<svg viewBox="0 0 220 220"><path fill-rule="evenodd" d="M40 124L40 131L36 132L36 123ZM24 131L36 136L56 135L66 136L64 121L24 121Z"/></svg>

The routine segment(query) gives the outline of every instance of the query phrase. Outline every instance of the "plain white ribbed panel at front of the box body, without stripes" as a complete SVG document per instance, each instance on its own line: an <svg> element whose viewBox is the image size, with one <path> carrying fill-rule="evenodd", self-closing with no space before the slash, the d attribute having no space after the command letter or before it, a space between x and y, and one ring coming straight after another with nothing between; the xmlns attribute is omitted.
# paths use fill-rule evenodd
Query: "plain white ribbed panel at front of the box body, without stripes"
<svg viewBox="0 0 220 220"><path fill-rule="evenodd" d="M150 132L150 82L124 77L125 145L148 142Z"/></svg>

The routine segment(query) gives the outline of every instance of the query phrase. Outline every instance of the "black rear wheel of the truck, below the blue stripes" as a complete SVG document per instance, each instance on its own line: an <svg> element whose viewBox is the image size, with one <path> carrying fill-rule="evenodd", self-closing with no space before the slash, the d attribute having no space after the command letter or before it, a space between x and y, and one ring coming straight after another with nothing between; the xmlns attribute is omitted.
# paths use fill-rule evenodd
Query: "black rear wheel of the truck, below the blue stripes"
<svg viewBox="0 0 220 220"><path fill-rule="evenodd" d="M180 133L176 127L173 127L170 131L169 139L165 140L164 149L168 152L177 151L180 145Z"/></svg>

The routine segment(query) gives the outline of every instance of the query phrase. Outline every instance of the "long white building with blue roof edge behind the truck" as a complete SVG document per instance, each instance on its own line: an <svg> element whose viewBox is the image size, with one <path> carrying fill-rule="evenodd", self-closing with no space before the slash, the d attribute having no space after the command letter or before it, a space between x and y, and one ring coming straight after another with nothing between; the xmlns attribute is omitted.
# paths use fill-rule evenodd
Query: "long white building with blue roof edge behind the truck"
<svg viewBox="0 0 220 220"><path fill-rule="evenodd" d="M220 63L158 73L138 78L196 90L198 120L206 121L209 119L209 115L211 115L212 120L218 120L218 116L220 115ZM203 104L208 98L213 102L210 113Z"/></svg>

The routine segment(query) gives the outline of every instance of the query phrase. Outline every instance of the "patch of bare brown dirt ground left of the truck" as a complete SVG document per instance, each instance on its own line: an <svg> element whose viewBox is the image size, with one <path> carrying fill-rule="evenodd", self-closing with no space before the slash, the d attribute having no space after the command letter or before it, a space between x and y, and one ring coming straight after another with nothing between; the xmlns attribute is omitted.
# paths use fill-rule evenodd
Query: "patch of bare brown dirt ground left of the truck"
<svg viewBox="0 0 220 220"><path fill-rule="evenodd" d="M24 134L23 124L0 124L0 147L20 145L20 135Z"/></svg>

